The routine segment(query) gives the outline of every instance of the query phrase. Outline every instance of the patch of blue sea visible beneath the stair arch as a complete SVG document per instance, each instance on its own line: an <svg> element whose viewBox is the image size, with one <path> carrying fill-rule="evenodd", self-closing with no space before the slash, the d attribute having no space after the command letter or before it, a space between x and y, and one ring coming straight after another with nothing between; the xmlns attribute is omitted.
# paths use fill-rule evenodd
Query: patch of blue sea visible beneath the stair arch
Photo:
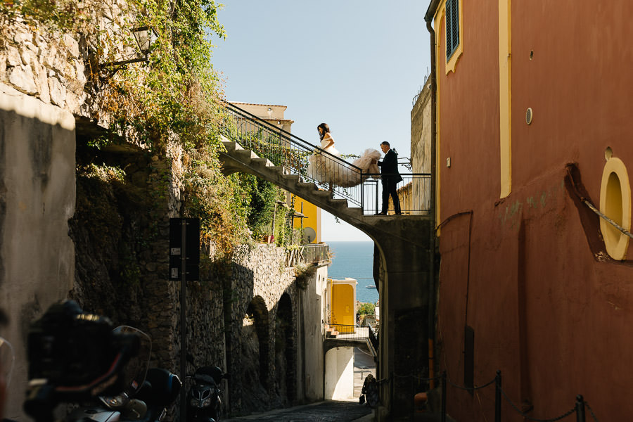
<svg viewBox="0 0 633 422"><path fill-rule="evenodd" d="M373 282L373 242L326 242L334 257L328 267L328 277L358 281L356 300L378 302L378 290L366 288L376 286Z"/></svg>

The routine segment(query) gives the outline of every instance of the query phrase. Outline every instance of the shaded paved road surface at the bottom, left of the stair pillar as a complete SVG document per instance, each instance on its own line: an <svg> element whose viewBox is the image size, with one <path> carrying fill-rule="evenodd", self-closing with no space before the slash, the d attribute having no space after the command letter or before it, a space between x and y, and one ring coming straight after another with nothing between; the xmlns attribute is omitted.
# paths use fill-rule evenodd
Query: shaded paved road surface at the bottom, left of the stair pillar
<svg viewBox="0 0 633 422"><path fill-rule="evenodd" d="M231 422L350 422L371 414L371 409L358 402L319 402L307 406L290 407L265 414L231 418ZM369 418L368 420L371 420Z"/></svg>

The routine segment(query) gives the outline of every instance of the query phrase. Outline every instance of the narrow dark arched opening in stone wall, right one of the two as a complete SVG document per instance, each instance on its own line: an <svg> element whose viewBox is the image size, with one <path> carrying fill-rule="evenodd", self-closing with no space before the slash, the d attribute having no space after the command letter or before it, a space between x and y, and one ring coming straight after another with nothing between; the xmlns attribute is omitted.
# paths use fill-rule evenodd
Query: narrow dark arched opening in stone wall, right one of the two
<svg viewBox="0 0 633 422"><path fill-rule="evenodd" d="M295 400L295 338L293 335L293 305L284 293L279 299L275 317L275 390L283 404Z"/></svg>

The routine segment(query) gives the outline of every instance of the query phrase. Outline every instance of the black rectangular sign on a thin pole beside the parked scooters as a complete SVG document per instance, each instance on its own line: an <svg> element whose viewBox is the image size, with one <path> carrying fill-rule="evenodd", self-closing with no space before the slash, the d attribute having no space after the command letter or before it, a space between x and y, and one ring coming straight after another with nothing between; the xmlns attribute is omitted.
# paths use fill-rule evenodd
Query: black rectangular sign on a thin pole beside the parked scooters
<svg viewBox="0 0 633 422"><path fill-rule="evenodd" d="M170 281L180 280L180 378L187 376L187 280L200 274L200 219L170 218ZM180 421L186 421L187 392L180 392Z"/></svg>

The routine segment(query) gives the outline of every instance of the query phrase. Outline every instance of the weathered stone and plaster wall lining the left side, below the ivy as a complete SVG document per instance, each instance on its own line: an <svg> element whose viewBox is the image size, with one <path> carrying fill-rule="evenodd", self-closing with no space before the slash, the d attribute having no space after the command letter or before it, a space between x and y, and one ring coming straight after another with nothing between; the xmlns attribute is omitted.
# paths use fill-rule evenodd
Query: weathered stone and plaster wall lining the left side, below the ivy
<svg viewBox="0 0 633 422"><path fill-rule="evenodd" d="M5 416L25 420L26 333L64 298L146 331L150 365L183 375L180 290L167 279L182 169L175 144L169 161L132 146L88 148L98 128L85 122L103 113L84 90L83 41L13 24L0 48L0 307L16 353ZM84 172L94 163L101 170ZM108 166L124 174L112 177ZM217 365L231 373L224 403L234 414L322 398L322 354L313 351L321 321L309 304L326 267L300 290L285 260L274 245L244 247L231 262L204 260L200 281L187 286L186 372Z"/></svg>

